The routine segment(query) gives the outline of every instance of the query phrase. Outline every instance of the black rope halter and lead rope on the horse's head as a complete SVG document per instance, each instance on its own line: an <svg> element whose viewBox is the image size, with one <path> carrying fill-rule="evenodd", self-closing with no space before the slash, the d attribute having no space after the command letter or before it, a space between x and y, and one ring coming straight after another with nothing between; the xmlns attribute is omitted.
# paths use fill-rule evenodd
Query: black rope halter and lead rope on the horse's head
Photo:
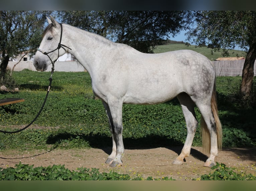
<svg viewBox="0 0 256 191"><path fill-rule="evenodd" d="M56 49L54 49L53 51L50 51L50 52L43 52L43 51L41 51L41 50L38 49L39 52L41 52L41 53L43 53L44 55L48 56L48 58L50 59L51 64L52 64L52 68L51 68L51 77L49 78L50 83L49 83L48 90L47 90L46 96L45 96L45 98L44 98L43 104L42 104L42 106L41 106L41 109L40 109L39 112L37 113L36 117L35 117L27 126L23 127L22 129L19 129L19 130L17 130L17 131L3 131L3 130L0 130L0 132L11 134L11 133L18 133L18 132L20 132L20 131L22 131L22 130L28 128L28 127L37 119L37 117L40 115L41 111L43 110L43 107L44 107L44 105L45 105L45 102L46 102L46 99L47 99L47 97L48 97L48 94L49 94L49 91L50 91L50 87L51 87L52 74L53 74L53 71L54 71L54 64L55 64L55 62L56 62L57 59L58 59L58 58L57 58L54 62L52 62L52 60L51 60L51 58L49 57L48 54L54 52L55 50L58 50L58 57L59 57L59 49L60 49L60 48L63 48L63 49L65 50L65 52L67 52L67 50L66 50L64 47L66 47L66 48L72 50L71 48L69 48L69 47L67 47L67 46L61 44L61 39L62 39L62 24L61 24L61 23L59 23L59 24L60 24L61 31L60 31L60 39L59 39L58 47L57 47Z"/></svg>

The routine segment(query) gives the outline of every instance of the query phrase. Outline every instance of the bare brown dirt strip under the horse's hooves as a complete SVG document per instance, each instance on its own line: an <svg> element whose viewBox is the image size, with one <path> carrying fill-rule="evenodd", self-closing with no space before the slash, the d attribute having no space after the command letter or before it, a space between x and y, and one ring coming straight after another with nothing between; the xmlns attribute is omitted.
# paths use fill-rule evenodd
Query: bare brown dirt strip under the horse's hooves
<svg viewBox="0 0 256 191"><path fill-rule="evenodd" d="M144 178L172 177L176 180L191 180L199 178L202 174L211 172L211 168L203 167L207 156L201 153L201 147L192 147L190 156L182 165L173 165L172 161L180 153L182 147L151 148L151 149L126 149L123 165L112 168L105 164L111 153L111 148L103 149L53 149L51 151L0 151L0 167L14 167L19 162L34 164L36 166L52 166L53 164L65 165L70 170L78 167L99 168L100 172L110 170L118 173L139 175ZM219 163L227 167L234 167L245 173L256 174L256 148L224 148L216 158Z"/></svg>

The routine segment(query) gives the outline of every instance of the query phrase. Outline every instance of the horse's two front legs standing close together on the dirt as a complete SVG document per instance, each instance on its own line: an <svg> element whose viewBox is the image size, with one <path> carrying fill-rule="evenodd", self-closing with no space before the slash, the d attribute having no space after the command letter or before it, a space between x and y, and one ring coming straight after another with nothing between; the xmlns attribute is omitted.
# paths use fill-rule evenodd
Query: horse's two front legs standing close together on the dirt
<svg viewBox="0 0 256 191"><path fill-rule="evenodd" d="M124 145L122 138L123 124L122 124L122 103L109 103L103 102L106 109L110 131L112 133L112 153L109 155L105 163L110 164L112 167L122 165L122 157L124 154Z"/></svg>

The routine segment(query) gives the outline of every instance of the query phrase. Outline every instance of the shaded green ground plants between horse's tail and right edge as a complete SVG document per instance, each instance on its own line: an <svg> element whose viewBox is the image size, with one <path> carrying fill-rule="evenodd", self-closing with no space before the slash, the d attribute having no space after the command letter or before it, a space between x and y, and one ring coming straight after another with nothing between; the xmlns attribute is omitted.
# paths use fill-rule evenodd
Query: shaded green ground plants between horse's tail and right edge
<svg viewBox="0 0 256 191"><path fill-rule="evenodd" d="M239 96L241 77L217 78L219 116L223 126L224 147L254 146L256 110L244 108ZM254 83L256 83L254 78Z"/></svg>

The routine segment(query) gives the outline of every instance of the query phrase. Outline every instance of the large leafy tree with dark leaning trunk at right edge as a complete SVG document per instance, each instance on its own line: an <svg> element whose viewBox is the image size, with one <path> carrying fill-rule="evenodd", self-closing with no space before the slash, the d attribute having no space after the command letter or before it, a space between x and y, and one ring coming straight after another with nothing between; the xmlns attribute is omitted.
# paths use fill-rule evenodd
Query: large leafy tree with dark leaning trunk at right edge
<svg viewBox="0 0 256 191"><path fill-rule="evenodd" d="M242 73L240 95L243 101L252 101L254 62L256 58L255 11L196 11L193 12L188 40L202 44L208 41L215 49L234 49L239 45L248 51ZM248 49L249 47L249 49Z"/></svg>

